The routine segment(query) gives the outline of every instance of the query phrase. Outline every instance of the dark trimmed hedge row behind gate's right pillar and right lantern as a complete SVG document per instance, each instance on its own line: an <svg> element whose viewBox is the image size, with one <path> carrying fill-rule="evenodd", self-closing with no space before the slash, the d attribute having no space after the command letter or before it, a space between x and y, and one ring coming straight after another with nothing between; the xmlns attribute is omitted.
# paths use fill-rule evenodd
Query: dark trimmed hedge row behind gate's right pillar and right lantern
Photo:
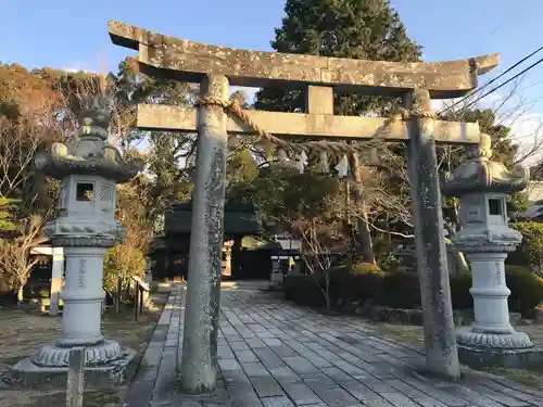
<svg viewBox="0 0 543 407"><path fill-rule="evenodd" d="M384 272L377 269L341 267L329 272L330 303L367 301L391 308L420 308L418 276L411 271ZM528 317L533 308L543 303L543 280L529 269L518 266L506 267L507 285L512 291L509 308ZM473 307L469 289L471 275L459 274L451 277L451 295L454 309ZM325 276L289 276L285 296L299 305L324 307L323 294Z"/></svg>

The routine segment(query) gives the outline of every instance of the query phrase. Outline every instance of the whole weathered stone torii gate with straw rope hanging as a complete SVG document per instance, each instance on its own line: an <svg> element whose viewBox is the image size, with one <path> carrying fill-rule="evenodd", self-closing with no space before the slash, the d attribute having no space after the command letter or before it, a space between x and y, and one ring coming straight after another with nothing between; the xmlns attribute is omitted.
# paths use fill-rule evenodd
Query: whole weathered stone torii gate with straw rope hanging
<svg viewBox="0 0 543 407"><path fill-rule="evenodd" d="M216 47L118 22L110 22L109 31L115 44L139 51L138 61L147 74L201 84L198 109L138 107L141 129L198 131L181 360L185 390L210 391L216 381L228 133L257 132L279 145L285 141L277 137L328 138L334 139L328 143L336 151L344 152L353 148L341 141L372 141L377 133L380 141L407 142L427 368L449 378L459 377L435 142L475 144L480 132L478 124L434 119L430 100L462 97L475 89L478 75L498 64L497 54L440 63L361 61ZM229 85L305 89L306 113L240 113L230 109ZM336 116L333 92L402 97L407 114L395 120ZM319 142L305 144L317 148Z"/></svg>

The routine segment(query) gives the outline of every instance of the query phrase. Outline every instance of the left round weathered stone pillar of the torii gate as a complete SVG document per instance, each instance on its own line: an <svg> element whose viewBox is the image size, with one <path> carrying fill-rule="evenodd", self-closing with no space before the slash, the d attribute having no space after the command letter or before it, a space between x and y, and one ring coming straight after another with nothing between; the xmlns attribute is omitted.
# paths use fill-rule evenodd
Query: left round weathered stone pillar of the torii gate
<svg viewBox="0 0 543 407"><path fill-rule="evenodd" d="M228 79L209 75L202 97L228 100ZM211 392L217 379L217 333L227 155L227 115L222 106L198 110L197 170L192 199L189 278L181 358L181 385Z"/></svg>

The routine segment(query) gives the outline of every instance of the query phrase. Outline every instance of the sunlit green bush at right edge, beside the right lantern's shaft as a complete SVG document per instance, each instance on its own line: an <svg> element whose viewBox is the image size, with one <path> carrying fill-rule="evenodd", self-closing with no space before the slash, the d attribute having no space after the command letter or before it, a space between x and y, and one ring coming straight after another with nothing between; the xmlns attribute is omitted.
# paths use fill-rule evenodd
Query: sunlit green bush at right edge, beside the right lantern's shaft
<svg viewBox="0 0 543 407"><path fill-rule="evenodd" d="M509 254L507 264L530 267L532 271L543 275L543 224L519 221L510 226L522 233L522 242Z"/></svg>

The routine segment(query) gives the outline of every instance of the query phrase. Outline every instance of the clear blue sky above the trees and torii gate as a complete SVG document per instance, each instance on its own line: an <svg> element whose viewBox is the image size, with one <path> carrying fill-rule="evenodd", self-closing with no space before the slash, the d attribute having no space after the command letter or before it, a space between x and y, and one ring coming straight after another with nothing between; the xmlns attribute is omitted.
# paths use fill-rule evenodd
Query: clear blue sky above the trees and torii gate
<svg viewBox="0 0 543 407"><path fill-rule="evenodd" d="M115 69L134 54L111 43L108 20L227 47L270 50L286 0L0 0L1 62L27 67ZM543 46L541 0L391 0L427 61L500 52L496 74ZM543 52L540 56L543 56ZM534 60L535 61L535 60ZM490 77L483 77L484 82ZM543 114L543 64L520 86Z"/></svg>

